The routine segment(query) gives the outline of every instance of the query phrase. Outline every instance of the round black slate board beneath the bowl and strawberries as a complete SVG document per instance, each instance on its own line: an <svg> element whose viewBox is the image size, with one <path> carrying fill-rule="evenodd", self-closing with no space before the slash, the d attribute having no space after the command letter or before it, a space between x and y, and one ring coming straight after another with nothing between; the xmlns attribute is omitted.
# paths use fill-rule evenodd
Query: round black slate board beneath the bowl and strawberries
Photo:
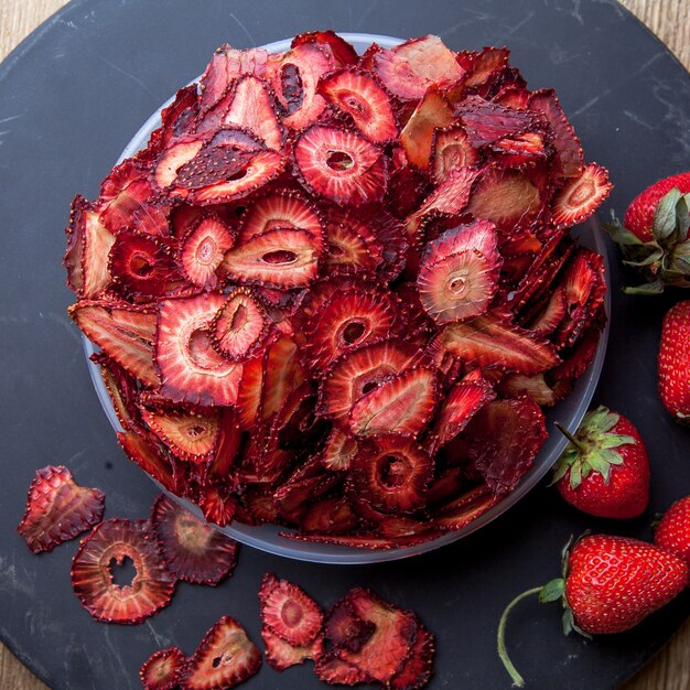
<svg viewBox="0 0 690 690"><path fill-rule="evenodd" d="M83 485L101 487L109 517L145 516L155 494L119 451L65 314L72 294L60 262L72 196L96 194L141 122L202 72L217 45L316 28L431 32L453 48L508 43L530 87L558 89L587 159L611 169L616 191L607 207L623 209L648 183L689 166L689 75L615 2L85 0L52 18L0 67L0 637L55 690L137 688L154 649L193 651L225 613L259 640L256 592L268 570L324 605L366 584L418 611L438 639L431 688L509 688L494 642L506 602L558 572L569 535L593 528L649 538L654 513L690 492L690 432L669 420L655 390L661 315L673 298L623 298L615 267L596 399L629 416L648 441L653 496L637 520L590 519L540 487L479 533L406 562L337 568L246 548L222 586L182 584L169 608L134 627L96 623L80 608L69 583L76 542L40 558L28 551L14 528L39 466L65 463ZM683 595L629 634L585 642L560 634L556 608L525 603L508 644L530 688L616 688L689 613ZM310 668L278 675L265 665L245 687L322 686Z"/></svg>

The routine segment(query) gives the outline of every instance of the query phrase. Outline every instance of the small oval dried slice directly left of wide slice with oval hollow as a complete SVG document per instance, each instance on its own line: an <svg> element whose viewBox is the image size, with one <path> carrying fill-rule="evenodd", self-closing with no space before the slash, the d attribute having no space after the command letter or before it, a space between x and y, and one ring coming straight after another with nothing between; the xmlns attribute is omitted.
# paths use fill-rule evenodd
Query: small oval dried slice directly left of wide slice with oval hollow
<svg viewBox="0 0 690 690"><path fill-rule="evenodd" d="M218 285L216 271L234 244L234 233L217 215L202 217L181 242L179 261L182 272L195 285L213 290Z"/></svg>

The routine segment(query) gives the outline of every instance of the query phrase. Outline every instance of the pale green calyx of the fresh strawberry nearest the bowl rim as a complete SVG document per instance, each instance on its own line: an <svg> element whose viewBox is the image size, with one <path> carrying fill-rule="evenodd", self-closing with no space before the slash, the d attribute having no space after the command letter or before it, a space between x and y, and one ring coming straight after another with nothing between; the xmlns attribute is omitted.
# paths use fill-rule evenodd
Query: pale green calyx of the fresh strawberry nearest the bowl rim
<svg viewBox="0 0 690 690"><path fill-rule="evenodd" d="M585 414L574 435L557 422L556 427L570 443L556 465L551 483L556 484L569 474L570 487L578 488L592 472L599 472L608 484L612 465L624 462L617 449L637 444L633 436L613 432L619 419L619 414L600 406Z"/></svg>

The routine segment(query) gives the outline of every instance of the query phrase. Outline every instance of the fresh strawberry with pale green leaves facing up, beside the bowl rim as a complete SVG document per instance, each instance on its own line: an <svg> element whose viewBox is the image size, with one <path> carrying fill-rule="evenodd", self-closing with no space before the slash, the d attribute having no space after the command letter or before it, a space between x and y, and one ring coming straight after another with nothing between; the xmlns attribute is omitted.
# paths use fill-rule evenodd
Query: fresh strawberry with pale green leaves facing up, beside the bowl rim
<svg viewBox="0 0 690 690"><path fill-rule="evenodd" d="M649 502L649 457L639 432L605 407L587 412L553 472L572 506L596 517L633 518Z"/></svg>

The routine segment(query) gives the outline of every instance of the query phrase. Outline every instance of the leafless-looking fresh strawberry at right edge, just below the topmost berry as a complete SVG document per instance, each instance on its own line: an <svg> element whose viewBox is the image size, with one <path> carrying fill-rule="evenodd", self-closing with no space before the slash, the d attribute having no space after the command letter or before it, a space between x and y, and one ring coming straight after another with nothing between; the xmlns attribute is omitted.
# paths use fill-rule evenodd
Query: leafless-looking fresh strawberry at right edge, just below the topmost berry
<svg viewBox="0 0 690 690"><path fill-rule="evenodd" d="M659 396L676 421L690 423L690 300L679 302L664 317Z"/></svg>

